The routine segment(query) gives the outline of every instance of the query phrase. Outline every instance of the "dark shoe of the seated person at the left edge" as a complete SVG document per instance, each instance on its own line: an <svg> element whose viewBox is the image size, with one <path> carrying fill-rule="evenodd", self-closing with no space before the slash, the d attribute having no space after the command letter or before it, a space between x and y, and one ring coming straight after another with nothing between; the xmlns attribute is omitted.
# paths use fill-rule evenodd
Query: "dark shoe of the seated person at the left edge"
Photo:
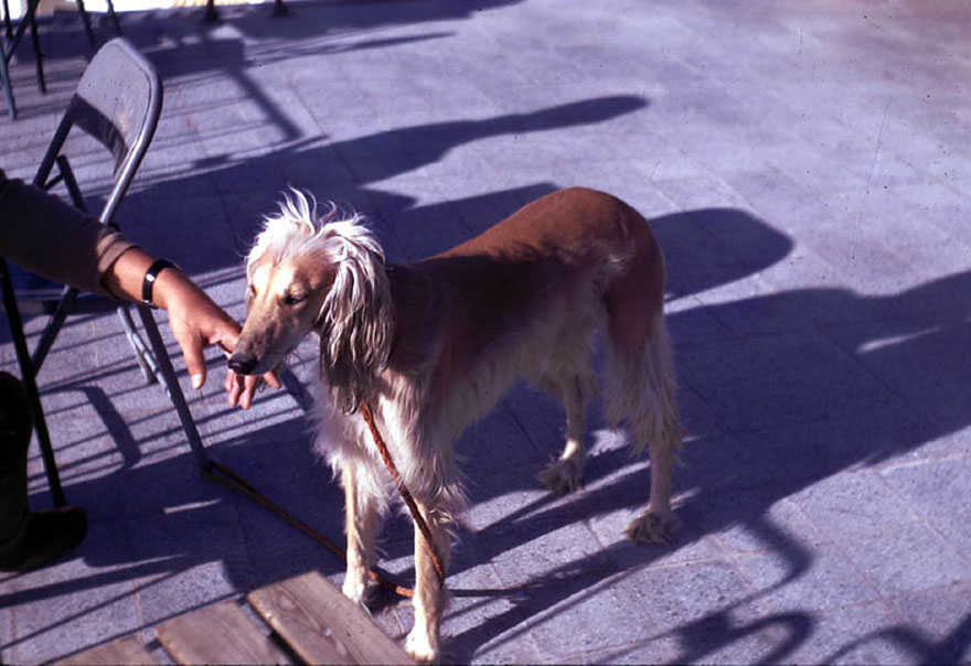
<svg viewBox="0 0 971 666"><path fill-rule="evenodd" d="M0 543L0 571L33 571L46 567L84 540L84 509L64 506L26 514L23 524Z"/></svg>

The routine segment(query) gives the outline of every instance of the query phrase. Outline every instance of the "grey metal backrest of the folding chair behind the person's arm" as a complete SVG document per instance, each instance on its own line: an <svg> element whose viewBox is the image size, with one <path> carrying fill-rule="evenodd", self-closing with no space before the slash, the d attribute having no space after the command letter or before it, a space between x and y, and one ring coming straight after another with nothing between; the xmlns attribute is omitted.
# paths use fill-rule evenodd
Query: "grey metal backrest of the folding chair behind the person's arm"
<svg viewBox="0 0 971 666"><path fill-rule="evenodd" d="M162 83L158 72L125 39L111 40L88 63L41 161L34 184L46 185L72 127L81 128L115 158L114 186L99 215L102 224L110 223L151 143L161 110ZM72 176L63 173L62 164L58 166L71 189Z"/></svg>

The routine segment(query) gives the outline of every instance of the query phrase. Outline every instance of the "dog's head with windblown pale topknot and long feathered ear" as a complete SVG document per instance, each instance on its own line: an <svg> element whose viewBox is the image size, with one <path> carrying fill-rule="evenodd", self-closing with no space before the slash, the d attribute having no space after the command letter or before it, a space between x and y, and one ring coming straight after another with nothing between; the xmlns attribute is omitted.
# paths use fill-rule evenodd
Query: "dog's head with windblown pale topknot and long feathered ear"
<svg viewBox="0 0 971 666"><path fill-rule="evenodd" d="M331 398L356 409L387 363L393 325L384 253L360 217L333 205L318 216L316 202L295 191L265 219L246 280L246 323L230 367L266 373L317 331Z"/></svg>

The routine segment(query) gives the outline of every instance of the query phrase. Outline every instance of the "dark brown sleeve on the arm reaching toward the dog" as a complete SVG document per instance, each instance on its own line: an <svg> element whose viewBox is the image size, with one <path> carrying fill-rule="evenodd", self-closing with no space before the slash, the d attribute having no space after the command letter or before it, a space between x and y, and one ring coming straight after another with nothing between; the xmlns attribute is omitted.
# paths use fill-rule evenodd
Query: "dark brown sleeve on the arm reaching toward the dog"
<svg viewBox="0 0 971 666"><path fill-rule="evenodd" d="M97 218L0 170L0 256L83 291L107 293L102 276L134 247Z"/></svg>

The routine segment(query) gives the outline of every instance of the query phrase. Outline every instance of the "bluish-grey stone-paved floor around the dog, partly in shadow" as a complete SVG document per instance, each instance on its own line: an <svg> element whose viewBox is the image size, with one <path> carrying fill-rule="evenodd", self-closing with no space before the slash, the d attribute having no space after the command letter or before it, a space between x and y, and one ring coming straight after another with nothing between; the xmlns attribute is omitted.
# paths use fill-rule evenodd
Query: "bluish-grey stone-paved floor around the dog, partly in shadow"
<svg viewBox="0 0 971 666"><path fill-rule="evenodd" d="M971 6L299 2L282 19L254 6L218 25L188 9L121 25L166 85L121 224L234 315L242 256L288 185L369 215L393 259L567 185L652 218L687 431L681 531L625 543L648 462L593 407L584 488L543 492L563 415L516 388L459 442L472 507L448 660L971 658ZM0 163L26 178L89 53L74 15L41 40L50 93L25 43L21 118L0 118ZM104 193L104 161L78 165ZM341 540L298 402L266 391L231 411L210 358L204 390L184 386L211 454ZM295 372L308 380L313 362L311 344ZM333 556L199 476L114 318L74 320L40 382L90 531L61 563L0 580L3 663L150 638L309 569L340 581ZM30 487L50 505L33 450ZM407 523L383 536L384 567L409 577ZM395 636L410 625L407 603L375 614Z"/></svg>

